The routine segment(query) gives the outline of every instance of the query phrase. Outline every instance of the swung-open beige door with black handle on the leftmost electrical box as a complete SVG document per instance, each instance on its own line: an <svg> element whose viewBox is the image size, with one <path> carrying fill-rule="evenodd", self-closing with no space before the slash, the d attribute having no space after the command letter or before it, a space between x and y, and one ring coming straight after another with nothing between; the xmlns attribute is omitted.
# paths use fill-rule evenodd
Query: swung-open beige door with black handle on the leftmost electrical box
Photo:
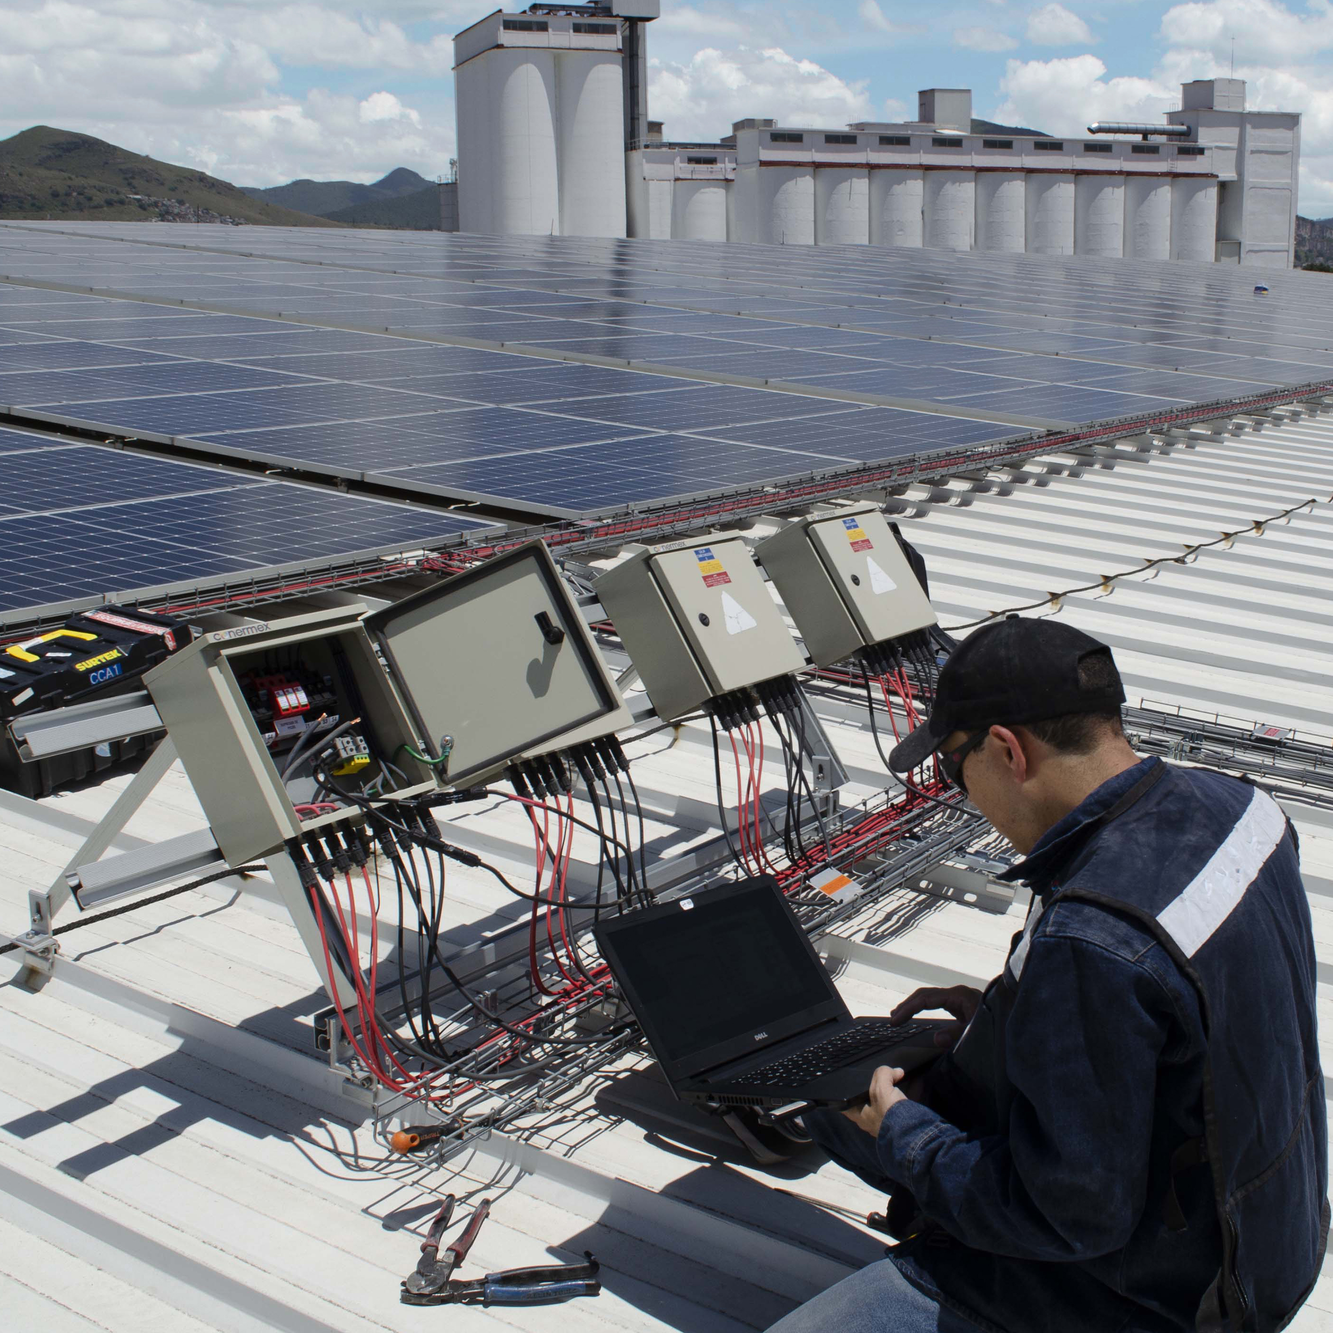
<svg viewBox="0 0 1333 1333"><path fill-rule="evenodd" d="M365 617L429 753L471 785L631 722L545 545L532 541ZM445 741L444 737L449 737Z"/></svg>

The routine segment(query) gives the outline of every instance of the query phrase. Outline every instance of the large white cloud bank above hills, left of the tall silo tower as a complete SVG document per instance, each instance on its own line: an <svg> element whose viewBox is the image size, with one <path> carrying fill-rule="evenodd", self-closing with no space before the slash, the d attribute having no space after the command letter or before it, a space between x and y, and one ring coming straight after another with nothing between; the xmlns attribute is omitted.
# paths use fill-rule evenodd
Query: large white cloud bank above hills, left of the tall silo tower
<svg viewBox="0 0 1333 1333"><path fill-rule="evenodd" d="M360 96L283 91L283 69L293 65L331 77L436 75L452 64L449 37L416 41L395 19L476 15L464 0L380 9L367 17L344 0L7 0L0 137L57 125L247 185L373 180L399 165L439 175L453 155L448 103L427 116L384 84Z"/></svg>

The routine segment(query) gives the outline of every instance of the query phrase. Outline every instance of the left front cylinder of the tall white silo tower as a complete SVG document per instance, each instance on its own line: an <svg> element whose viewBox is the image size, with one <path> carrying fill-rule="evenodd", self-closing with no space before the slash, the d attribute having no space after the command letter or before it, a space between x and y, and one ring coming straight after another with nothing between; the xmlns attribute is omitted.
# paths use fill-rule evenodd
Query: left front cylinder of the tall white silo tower
<svg viewBox="0 0 1333 1333"><path fill-rule="evenodd" d="M489 163L460 172L495 172L488 231L520 236L560 232L556 173L556 56L552 51L497 49L488 56L492 120ZM473 183L464 180L464 192Z"/></svg>

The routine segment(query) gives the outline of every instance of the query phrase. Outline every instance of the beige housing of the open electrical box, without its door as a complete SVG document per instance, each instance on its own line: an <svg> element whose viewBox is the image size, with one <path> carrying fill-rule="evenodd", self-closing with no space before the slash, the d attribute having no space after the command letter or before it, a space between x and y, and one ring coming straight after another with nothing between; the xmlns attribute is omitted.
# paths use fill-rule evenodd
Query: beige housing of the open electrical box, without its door
<svg viewBox="0 0 1333 1333"><path fill-rule="evenodd" d="M296 813L245 702L237 677L275 653L297 653L316 669L335 676L339 716L344 720L360 716L359 730L373 737L381 754L395 756L401 745L413 749L421 745L399 690L361 625L359 617L364 609L349 607L215 631L144 677L229 864L267 856L288 838L347 818L345 810L312 820ZM431 768L405 752L392 762L407 781L387 774L392 778L387 793L403 794L435 785Z"/></svg>

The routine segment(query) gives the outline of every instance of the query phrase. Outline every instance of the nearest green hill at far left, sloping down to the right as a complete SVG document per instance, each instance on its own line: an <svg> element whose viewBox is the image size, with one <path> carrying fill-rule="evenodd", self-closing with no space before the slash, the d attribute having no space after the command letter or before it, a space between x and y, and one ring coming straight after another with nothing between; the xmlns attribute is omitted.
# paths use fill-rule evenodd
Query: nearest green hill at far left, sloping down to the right
<svg viewBox="0 0 1333 1333"><path fill-rule="evenodd" d="M35 125L0 141L0 217L60 221L217 221L336 227L251 199L189 167L172 167L69 129Z"/></svg>

